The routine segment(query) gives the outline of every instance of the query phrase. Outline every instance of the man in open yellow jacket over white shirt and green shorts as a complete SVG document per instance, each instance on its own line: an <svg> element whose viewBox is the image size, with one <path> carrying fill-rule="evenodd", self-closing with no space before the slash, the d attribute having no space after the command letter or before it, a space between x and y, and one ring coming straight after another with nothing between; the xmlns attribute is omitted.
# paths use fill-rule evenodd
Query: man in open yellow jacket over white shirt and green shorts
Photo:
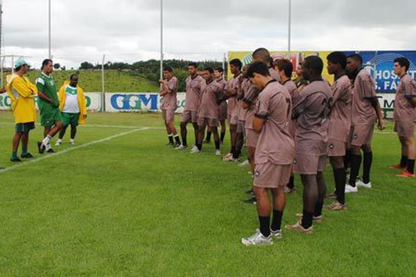
<svg viewBox="0 0 416 277"><path fill-rule="evenodd" d="M75 144L76 127L84 124L87 118L87 101L84 90L78 86L78 75L72 74L69 81L65 81L59 89L58 98L60 110L62 111L63 127L59 133L55 145L61 145L67 127L71 125L71 139L69 143Z"/></svg>

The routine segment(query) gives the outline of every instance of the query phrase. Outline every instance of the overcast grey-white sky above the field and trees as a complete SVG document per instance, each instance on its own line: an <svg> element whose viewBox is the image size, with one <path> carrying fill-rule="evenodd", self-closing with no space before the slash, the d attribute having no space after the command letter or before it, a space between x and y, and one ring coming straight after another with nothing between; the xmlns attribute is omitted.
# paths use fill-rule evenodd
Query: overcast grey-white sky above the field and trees
<svg viewBox="0 0 416 277"><path fill-rule="evenodd" d="M3 0L3 55L38 67L48 56L48 0ZM85 60L159 58L160 0L51 0L52 55ZM292 0L292 49L413 50L416 1ZM288 0L164 0L166 58L221 59L259 46L286 50ZM191 54L196 53L196 54Z"/></svg>

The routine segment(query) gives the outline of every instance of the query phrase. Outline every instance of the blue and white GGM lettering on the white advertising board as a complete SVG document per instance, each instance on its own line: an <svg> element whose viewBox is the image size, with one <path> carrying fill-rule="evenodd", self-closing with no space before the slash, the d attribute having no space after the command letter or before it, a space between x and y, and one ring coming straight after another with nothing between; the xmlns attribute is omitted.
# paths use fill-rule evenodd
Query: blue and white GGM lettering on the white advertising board
<svg viewBox="0 0 416 277"><path fill-rule="evenodd" d="M116 93L111 96L111 105L119 110L157 110L157 94Z"/></svg>

